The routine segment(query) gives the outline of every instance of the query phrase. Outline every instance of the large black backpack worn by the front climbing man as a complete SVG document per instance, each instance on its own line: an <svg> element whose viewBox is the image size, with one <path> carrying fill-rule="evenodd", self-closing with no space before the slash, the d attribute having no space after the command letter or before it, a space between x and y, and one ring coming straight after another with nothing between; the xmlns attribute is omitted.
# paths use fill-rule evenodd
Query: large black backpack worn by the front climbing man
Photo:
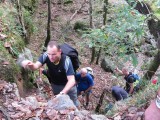
<svg viewBox="0 0 160 120"><path fill-rule="evenodd" d="M73 69L76 72L76 70L79 68L80 66L80 61L78 59L78 52L76 49L74 49L73 47L71 47L70 45L64 43L60 46L61 50L62 50L62 54L65 54L67 56L70 57L72 65L73 65Z"/></svg>

